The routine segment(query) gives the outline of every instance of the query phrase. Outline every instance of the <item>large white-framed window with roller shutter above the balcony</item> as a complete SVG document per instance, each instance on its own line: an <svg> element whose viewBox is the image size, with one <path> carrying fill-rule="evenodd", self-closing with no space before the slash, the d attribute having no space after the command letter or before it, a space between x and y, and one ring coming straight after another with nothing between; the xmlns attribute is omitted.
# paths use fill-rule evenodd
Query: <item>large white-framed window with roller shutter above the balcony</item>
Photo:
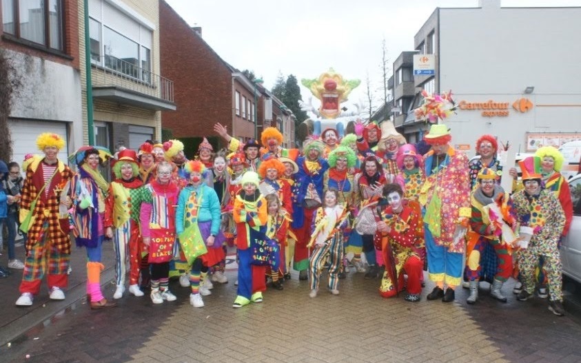
<svg viewBox="0 0 581 363"><path fill-rule="evenodd" d="M89 13L91 61L150 82L152 30L105 1L91 0Z"/></svg>

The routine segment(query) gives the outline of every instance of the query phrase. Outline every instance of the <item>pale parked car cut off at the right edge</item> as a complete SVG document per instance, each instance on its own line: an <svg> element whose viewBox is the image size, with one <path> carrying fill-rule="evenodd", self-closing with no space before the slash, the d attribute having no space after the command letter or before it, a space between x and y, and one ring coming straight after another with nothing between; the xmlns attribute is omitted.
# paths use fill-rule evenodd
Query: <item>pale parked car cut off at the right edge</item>
<svg viewBox="0 0 581 363"><path fill-rule="evenodd" d="M569 233L561 241L563 273L581 283L581 174L569 179L573 201L573 221Z"/></svg>

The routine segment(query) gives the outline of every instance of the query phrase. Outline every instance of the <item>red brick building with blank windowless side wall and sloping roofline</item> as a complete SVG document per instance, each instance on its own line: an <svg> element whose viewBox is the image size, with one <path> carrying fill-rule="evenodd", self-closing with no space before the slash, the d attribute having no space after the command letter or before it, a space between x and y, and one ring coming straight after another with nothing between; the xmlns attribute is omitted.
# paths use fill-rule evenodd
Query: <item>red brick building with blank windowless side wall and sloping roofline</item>
<svg viewBox="0 0 581 363"><path fill-rule="evenodd" d="M176 112L163 112L163 127L184 141L192 157L203 136L216 147L225 146L212 131L214 123L227 125L233 136L247 141L260 138L272 113L268 94L228 64L165 1L159 3L161 74L175 81ZM258 105L258 107L257 107ZM256 120L256 123L254 121Z"/></svg>

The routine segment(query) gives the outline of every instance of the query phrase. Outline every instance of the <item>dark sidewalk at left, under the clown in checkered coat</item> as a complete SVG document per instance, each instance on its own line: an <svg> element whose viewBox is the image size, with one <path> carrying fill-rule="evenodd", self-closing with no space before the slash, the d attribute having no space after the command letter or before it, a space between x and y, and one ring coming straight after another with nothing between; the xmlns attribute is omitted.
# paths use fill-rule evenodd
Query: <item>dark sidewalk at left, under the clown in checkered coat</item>
<svg viewBox="0 0 581 363"><path fill-rule="evenodd" d="M8 265L8 250L1 251L0 265L6 269ZM16 256L24 262L24 247L16 247ZM103 243L103 265L105 271L101 272L101 284L106 287L113 278L115 254L111 241ZM72 246L69 274L69 283L65 289L65 300L50 300L48 297L48 286L46 279L41 285L41 292L34 297L32 307L17 307L14 302L19 298L19 286L22 279L23 270L8 269L11 275L8 278L0 279L0 289L3 292L0 296L0 346L14 340L22 333L32 329L38 324L45 324L54 315L70 307L77 300L81 300L86 295L87 268L85 249L76 245ZM112 289L103 288L106 298L112 298ZM89 307L87 307L89 309Z"/></svg>

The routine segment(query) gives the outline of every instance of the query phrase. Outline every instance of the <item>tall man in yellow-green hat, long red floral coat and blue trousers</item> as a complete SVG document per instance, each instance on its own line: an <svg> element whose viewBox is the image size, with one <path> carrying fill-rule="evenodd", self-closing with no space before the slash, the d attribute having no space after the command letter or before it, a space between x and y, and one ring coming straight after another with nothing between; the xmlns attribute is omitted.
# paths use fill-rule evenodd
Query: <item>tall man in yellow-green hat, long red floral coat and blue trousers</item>
<svg viewBox="0 0 581 363"><path fill-rule="evenodd" d="M468 158L451 147L451 134L444 124L431 125L425 140L432 149L424 156L426 180L419 200L425 208L429 279L436 282L427 299L451 302L461 282L464 237L471 216Z"/></svg>

